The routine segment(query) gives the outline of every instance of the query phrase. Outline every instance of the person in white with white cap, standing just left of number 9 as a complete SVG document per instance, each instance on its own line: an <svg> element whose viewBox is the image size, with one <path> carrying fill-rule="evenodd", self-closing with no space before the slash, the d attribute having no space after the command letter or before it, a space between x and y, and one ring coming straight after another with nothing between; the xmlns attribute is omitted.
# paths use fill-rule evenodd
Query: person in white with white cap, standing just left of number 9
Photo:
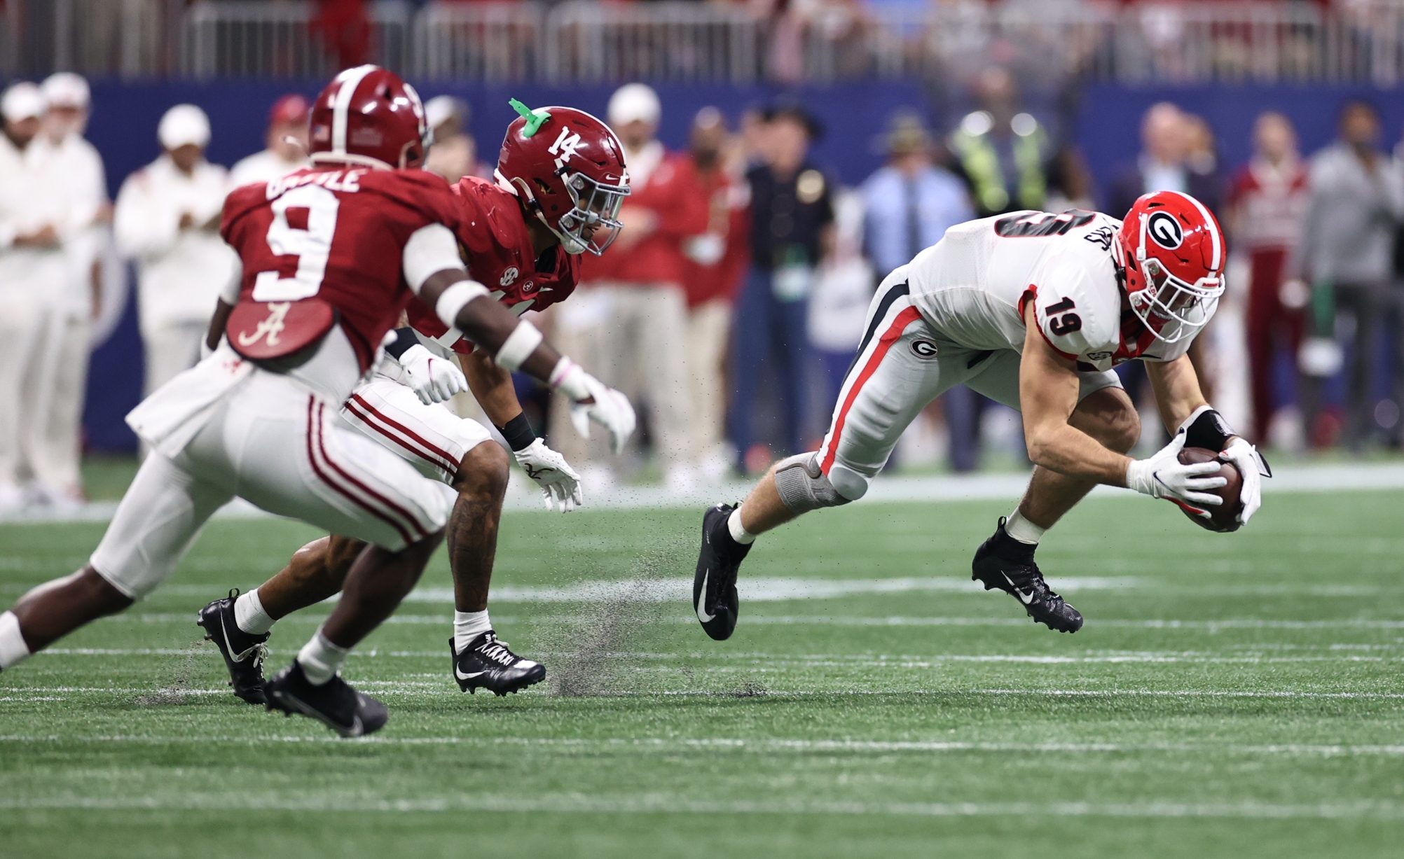
<svg viewBox="0 0 1404 859"><path fill-rule="evenodd" d="M118 248L138 264L147 394L199 358L219 288L237 261L219 237L229 171L205 160L205 111L178 104L156 135L166 152L122 182L112 225Z"/></svg>

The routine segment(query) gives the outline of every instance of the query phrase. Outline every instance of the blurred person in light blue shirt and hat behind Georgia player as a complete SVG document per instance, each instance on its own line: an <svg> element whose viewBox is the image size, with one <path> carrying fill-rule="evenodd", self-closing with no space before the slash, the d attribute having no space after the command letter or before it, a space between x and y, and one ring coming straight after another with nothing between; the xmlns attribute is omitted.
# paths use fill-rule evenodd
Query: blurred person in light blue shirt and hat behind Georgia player
<svg viewBox="0 0 1404 859"><path fill-rule="evenodd" d="M938 166L932 150L921 118L897 114L887 133L887 164L863 182L863 243L879 279L976 215L966 184ZM980 455L976 393L962 385L942 394L941 404L951 434L951 467L973 470Z"/></svg>

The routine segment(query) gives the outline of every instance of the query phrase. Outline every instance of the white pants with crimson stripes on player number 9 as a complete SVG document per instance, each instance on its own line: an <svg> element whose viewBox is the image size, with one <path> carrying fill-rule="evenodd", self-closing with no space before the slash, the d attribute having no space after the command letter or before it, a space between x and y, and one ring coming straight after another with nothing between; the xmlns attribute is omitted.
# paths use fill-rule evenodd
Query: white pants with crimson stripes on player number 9
<svg viewBox="0 0 1404 859"><path fill-rule="evenodd" d="M211 514L234 495L390 550L442 529L456 498L341 425L324 397L288 376L254 369L216 401L209 422L180 455L152 451L91 564L118 591L140 599L171 574Z"/></svg>

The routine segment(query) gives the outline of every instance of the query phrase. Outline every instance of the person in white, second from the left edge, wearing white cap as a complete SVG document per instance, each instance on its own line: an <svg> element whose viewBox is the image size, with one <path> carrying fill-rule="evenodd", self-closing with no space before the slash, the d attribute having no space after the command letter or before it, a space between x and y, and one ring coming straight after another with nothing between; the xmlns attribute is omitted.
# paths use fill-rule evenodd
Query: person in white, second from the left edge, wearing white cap
<svg viewBox="0 0 1404 859"><path fill-rule="evenodd" d="M48 378L39 392L42 420L32 424L37 434L29 466L37 495L55 507L73 507L83 502L79 424L87 386L88 330L101 305L97 260L111 241L107 225L112 206L107 199L102 157L83 139L91 98L87 81L72 72L59 72L41 88L48 112L35 146L48 147L52 156L72 234L63 248L67 278L60 289L52 291L55 312L38 348Z"/></svg>

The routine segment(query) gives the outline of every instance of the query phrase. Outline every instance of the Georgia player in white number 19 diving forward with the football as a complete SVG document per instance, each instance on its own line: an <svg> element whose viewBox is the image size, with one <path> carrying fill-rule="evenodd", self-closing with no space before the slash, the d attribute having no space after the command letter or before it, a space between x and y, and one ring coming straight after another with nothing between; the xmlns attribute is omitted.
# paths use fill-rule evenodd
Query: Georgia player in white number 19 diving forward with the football
<svg viewBox="0 0 1404 859"><path fill-rule="evenodd" d="M1226 484L1220 466L1182 465L1178 455L1221 451L1243 474L1238 522L1247 524L1271 472L1205 401L1185 355L1223 295L1224 257L1219 222L1175 191L1141 197L1125 222L1074 209L951 227L878 288L823 446L776 463L740 507L717 504L703 517L692 588L702 629L717 640L736 629L736 574L757 535L862 498L907 424L953 385L1024 413L1033 476L976 552L973 578L1049 629L1077 632L1082 615L1043 581L1033 552L1098 483L1207 519L1206 505L1223 502L1207 491ZM1125 455L1140 418L1112 371L1133 359L1146 361L1174 434L1141 460Z"/></svg>

